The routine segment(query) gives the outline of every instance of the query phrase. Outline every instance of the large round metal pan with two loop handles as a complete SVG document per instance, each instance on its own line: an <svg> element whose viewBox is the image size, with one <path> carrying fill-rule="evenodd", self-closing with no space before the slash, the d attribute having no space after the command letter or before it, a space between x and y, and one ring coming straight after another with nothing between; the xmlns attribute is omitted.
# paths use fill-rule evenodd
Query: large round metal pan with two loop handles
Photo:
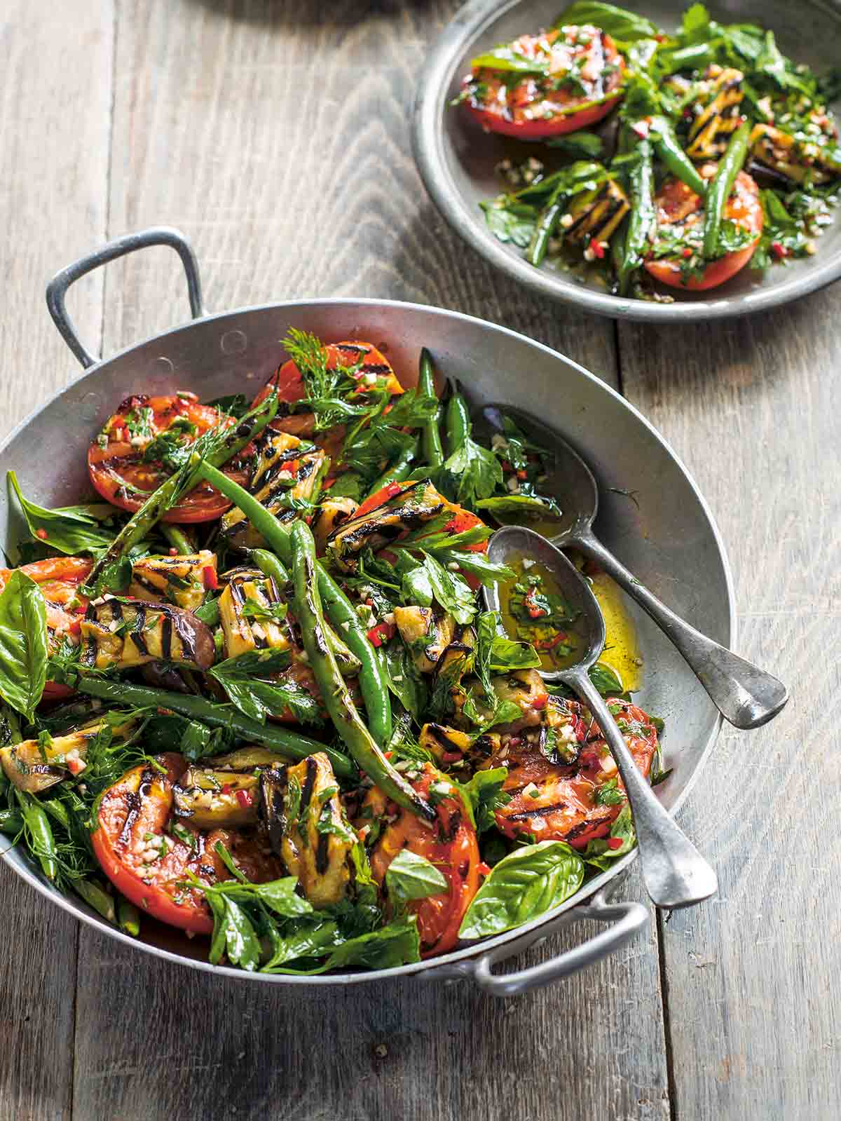
<svg viewBox="0 0 841 1121"><path fill-rule="evenodd" d="M59 274L52 309L80 355L82 349L64 317L63 288L104 259L155 243L172 244L182 253L191 274L193 309L201 315L197 272L188 247L175 231L147 231ZM16 471L27 495L38 502L61 506L77 501L89 485L85 452L91 436L122 398L176 389L193 390L204 400L232 391L252 396L276 369L280 340L289 326L327 341L370 340L387 351L404 383L415 379L420 348L428 346L438 369L458 378L473 401L510 401L556 426L597 475L602 500L597 528L606 543L690 622L726 646L733 641L732 589L721 538L697 487L663 437L631 405L575 362L505 327L455 312L381 299L313 299L197 317L187 326L92 364L6 439L0 461L3 471ZM47 447L58 448L59 454L37 451ZM632 491L638 507L612 488ZM20 532L19 515L3 497L0 544L12 556ZM674 810L715 740L720 717L676 650L630 601L629 606L637 620L646 667L639 703L666 722L665 761L673 771L658 793ZM431 962L378 973L266 976L211 966L201 960L203 947L151 920L146 920L139 942L131 939L81 899L55 891L22 849L12 849L8 840L0 839L0 853L4 853L6 864L38 891L111 937L170 961L271 984L348 984L425 971L438 978L472 974L489 991L508 993L594 961L647 923L647 910L640 904L608 904L604 897L608 883L635 859L631 853L551 915ZM589 906L582 906L585 900L590 900ZM490 974L493 961L581 917L613 925L537 971L525 971L514 979Z"/></svg>

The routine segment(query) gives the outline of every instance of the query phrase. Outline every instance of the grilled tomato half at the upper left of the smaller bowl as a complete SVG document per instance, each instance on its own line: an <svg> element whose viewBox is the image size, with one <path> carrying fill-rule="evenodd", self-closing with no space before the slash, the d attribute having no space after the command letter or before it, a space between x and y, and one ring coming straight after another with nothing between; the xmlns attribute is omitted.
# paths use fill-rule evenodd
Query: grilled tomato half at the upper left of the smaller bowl
<svg viewBox="0 0 841 1121"><path fill-rule="evenodd" d="M523 35L510 44L510 49L536 59L549 73L526 74L519 82L507 84L510 72L478 68L465 78L465 104L482 128L491 132L521 140L575 132L607 117L621 96L625 63L610 36L597 27ZM563 75L573 68L576 81L564 83ZM597 104L592 104L594 101Z"/></svg>

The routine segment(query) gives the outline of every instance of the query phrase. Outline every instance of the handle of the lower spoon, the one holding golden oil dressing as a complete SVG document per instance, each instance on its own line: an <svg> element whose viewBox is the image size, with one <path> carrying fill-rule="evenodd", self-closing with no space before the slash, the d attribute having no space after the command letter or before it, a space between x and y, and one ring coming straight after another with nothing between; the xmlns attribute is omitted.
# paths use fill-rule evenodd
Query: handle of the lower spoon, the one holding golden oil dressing
<svg viewBox="0 0 841 1121"><path fill-rule="evenodd" d="M585 671L567 679L586 702L622 777L634 814L643 879L656 907L692 907L718 891L715 872L683 833L643 777L617 722Z"/></svg>

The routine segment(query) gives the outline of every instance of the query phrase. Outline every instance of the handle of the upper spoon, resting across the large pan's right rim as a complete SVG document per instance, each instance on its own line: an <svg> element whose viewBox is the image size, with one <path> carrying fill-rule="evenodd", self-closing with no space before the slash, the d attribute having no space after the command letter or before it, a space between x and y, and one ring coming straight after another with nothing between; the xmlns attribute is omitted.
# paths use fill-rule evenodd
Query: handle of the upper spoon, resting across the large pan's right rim
<svg viewBox="0 0 841 1121"><path fill-rule="evenodd" d="M586 532L575 539L585 553L672 639L719 712L736 728L759 728L783 708L788 689L770 674L719 646L676 615L628 572L601 541Z"/></svg>

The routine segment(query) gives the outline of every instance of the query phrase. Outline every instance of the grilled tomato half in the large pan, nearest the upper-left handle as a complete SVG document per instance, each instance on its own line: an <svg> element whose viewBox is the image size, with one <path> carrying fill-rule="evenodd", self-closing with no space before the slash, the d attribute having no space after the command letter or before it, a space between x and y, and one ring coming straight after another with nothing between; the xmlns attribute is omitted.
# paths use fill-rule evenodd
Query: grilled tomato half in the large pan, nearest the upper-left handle
<svg viewBox="0 0 841 1121"><path fill-rule="evenodd" d="M121 510L133 513L139 510L153 491L157 490L172 474L159 461L144 462L144 445L131 443L132 429L136 441L147 443L173 425L191 425L183 436L191 443L210 428L235 424L210 405L200 405L195 393L170 397L127 397L105 425L108 436L105 447L94 439L87 450L87 473L99 493ZM240 457L238 457L240 458ZM241 456L244 458L244 453ZM241 485L248 482L248 473L234 460L224 469ZM163 520L176 522L212 521L221 517L231 503L207 483L200 483L182 501L168 510Z"/></svg>

